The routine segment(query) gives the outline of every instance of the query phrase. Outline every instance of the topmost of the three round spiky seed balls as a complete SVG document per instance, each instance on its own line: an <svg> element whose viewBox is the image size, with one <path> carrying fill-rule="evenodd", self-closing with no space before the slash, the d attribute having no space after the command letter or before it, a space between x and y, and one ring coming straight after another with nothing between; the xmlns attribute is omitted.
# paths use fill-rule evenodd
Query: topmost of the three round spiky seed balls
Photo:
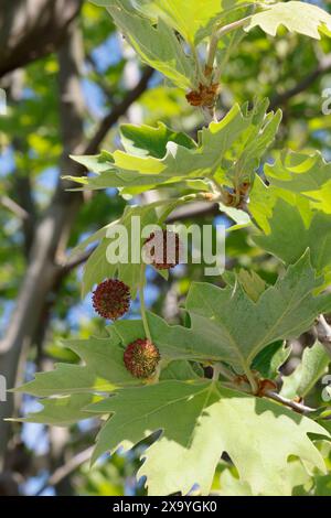
<svg viewBox="0 0 331 518"><path fill-rule="evenodd" d="M148 247L150 241L152 244ZM156 230L146 239L143 252L154 268L170 270L180 263L181 242L179 235L170 230Z"/></svg>

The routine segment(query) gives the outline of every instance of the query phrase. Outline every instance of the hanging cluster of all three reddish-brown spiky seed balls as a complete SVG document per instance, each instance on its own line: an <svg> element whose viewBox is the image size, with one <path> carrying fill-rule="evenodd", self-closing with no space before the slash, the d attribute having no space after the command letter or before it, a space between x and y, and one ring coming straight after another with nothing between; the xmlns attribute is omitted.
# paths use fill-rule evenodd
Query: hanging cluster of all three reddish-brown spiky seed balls
<svg viewBox="0 0 331 518"><path fill-rule="evenodd" d="M179 265L180 239L178 234L169 230L158 230L149 236L145 245L163 240L163 253L161 258L154 255L154 247L149 247L147 255L150 256L149 261L158 270L169 270ZM168 250L168 245L173 248ZM158 246L158 245L157 245ZM153 259L152 257L156 256ZM168 257L171 259L169 260ZM168 262L167 262L168 261ZM120 319L130 306L130 289L127 284L118 279L107 279L97 285L93 292L93 306L95 311L104 319ZM137 338L126 346L124 353L124 364L129 373L136 378L150 378L160 361L160 353L158 347L148 338Z"/></svg>

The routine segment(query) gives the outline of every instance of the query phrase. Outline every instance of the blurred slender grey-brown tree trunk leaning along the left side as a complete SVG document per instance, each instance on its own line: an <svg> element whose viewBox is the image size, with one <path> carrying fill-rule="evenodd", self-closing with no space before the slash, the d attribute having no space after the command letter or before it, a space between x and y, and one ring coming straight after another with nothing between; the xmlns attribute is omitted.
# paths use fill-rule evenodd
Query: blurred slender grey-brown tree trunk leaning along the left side
<svg viewBox="0 0 331 518"><path fill-rule="evenodd" d="M63 46L58 52L60 63L60 119L63 137L61 174L77 174L79 171L70 160L70 153L78 153L84 141L84 99L81 89L83 66L81 33L77 25L71 25ZM66 246L70 229L81 205L82 195L65 191L60 179L52 203L39 222L31 247L30 261L17 309L0 344L0 371L6 374L9 387L17 382L20 364L42 320L47 294L56 283L60 267L57 257ZM12 414L13 397L0 404L0 467L9 438L9 425L3 421Z"/></svg>

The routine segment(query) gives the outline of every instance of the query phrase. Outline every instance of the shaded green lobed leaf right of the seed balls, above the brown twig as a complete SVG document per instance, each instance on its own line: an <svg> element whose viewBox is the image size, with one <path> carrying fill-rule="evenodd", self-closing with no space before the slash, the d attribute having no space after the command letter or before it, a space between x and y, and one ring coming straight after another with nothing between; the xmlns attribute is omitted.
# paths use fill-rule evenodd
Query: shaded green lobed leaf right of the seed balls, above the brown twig
<svg viewBox="0 0 331 518"><path fill-rule="evenodd" d="M264 347L299 336L330 306L329 295L312 294L320 284L306 252L256 303L241 283L225 289L193 283L186 309L197 333L201 330L201 337L217 344L220 358L246 370Z"/></svg>

